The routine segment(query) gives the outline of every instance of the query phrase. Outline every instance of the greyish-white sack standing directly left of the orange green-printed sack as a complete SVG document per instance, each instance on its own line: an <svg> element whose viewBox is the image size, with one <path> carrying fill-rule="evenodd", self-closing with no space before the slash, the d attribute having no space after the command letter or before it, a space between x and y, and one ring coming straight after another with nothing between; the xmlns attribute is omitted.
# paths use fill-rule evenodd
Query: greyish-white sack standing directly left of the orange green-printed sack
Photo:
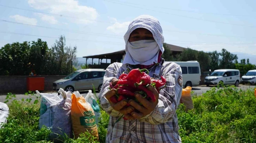
<svg viewBox="0 0 256 143"><path fill-rule="evenodd" d="M60 88L58 91L62 96L61 101L57 103L55 111L53 112L53 127L51 131L58 135L67 135L71 137L72 126L71 126L71 92L66 92ZM58 136L56 136L58 137ZM55 137L55 138L56 138Z"/></svg>

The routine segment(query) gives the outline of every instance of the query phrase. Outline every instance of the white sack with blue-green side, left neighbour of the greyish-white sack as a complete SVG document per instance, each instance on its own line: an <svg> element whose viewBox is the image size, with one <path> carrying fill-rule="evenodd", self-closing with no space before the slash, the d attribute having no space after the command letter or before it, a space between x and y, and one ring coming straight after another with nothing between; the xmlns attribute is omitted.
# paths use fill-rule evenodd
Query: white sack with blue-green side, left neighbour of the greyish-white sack
<svg viewBox="0 0 256 143"><path fill-rule="evenodd" d="M37 94L41 96L40 105L40 117L39 117L39 129L45 125L47 128L51 128L53 125L53 112L56 108L58 102L61 99L58 97L58 93L40 93L36 91Z"/></svg>

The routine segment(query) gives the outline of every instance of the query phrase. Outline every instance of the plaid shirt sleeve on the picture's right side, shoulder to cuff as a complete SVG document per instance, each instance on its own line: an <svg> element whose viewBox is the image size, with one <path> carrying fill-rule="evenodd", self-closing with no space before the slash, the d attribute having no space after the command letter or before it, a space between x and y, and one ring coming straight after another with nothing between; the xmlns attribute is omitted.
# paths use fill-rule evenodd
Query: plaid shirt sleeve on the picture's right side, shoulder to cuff
<svg viewBox="0 0 256 143"><path fill-rule="evenodd" d="M149 115L140 119L140 122L161 124L177 118L175 115L182 93L182 71L175 63L165 64L162 76L166 79L166 87L160 90L158 105ZM177 119L174 119L175 121Z"/></svg>

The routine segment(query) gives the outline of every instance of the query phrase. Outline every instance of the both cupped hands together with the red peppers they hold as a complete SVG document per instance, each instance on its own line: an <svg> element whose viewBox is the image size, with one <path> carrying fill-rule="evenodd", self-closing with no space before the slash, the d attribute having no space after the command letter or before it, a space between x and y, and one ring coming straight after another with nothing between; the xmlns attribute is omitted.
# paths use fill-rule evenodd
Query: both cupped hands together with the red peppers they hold
<svg viewBox="0 0 256 143"><path fill-rule="evenodd" d="M165 87L166 79L155 80L148 73L147 69L127 70L127 74L121 74L110 83L110 91L105 97L113 109L123 113L124 119L140 119L157 106L159 92Z"/></svg>

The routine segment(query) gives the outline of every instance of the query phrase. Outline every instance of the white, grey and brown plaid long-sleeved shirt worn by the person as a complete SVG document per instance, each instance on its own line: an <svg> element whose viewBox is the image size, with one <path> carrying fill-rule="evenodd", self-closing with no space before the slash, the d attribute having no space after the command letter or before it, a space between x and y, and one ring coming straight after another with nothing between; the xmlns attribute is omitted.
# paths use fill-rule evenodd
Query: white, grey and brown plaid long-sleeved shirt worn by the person
<svg viewBox="0 0 256 143"><path fill-rule="evenodd" d="M179 136L176 109L181 99L182 71L176 63L164 62L149 69L149 75L154 79L160 76L166 78L166 87L160 90L158 105L150 115L136 120L121 119L122 114L114 110L105 93L113 78L118 78L126 69L132 69L128 64L113 63L106 69L102 90L99 93L102 108L110 115L106 143L181 143Z"/></svg>

